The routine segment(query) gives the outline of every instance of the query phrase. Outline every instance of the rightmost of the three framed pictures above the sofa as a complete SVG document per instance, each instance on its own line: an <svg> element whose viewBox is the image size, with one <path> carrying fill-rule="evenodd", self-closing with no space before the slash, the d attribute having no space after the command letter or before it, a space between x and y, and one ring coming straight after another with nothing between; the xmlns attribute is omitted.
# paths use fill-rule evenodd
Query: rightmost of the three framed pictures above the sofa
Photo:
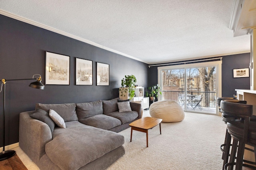
<svg viewBox="0 0 256 170"><path fill-rule="evenodd" d="M97 62L97 86L109 86L109 64Z"/></svg>

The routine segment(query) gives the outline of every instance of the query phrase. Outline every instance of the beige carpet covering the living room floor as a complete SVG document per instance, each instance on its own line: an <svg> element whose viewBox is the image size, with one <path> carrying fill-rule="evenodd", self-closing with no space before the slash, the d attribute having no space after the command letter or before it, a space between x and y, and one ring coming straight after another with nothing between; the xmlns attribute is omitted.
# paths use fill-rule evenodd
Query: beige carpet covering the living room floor
<svg viewBox="0 0 256 170"><path fill-rule="evenodd" d="M143 117L150 116L144 111ZM149 130L148 148L146 133L133 131L130 142L130 128L120 132L124 135L126 154L108 170L220 170L226 125L220 116L185 112L185 118L177 123L161 123ZM31 160L15 149L28 168L37 170Z"/></svg>

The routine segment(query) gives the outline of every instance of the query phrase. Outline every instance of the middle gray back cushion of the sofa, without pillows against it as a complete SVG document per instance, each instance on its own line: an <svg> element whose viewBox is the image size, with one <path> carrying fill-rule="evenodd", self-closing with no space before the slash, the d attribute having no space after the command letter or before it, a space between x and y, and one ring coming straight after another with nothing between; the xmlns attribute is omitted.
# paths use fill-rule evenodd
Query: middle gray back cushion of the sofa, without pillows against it
<svg viewBox="0 0 256 170"><path fill-rule="evenodd" d="M76 113L78 120L86 119L94 115L100 115L103 113L102 100L87 103L76 104Z"/></svg>

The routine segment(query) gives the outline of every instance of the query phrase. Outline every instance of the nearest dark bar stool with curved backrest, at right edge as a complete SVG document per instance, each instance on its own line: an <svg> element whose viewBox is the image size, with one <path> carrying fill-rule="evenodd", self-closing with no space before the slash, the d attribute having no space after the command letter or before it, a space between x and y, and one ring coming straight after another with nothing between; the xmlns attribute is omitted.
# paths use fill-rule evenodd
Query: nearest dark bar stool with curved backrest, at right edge
<svg viewBox="0 0 256 170"><path fill-rule="evenodd" d="M248 149L254 152L256 156L256 122L250 121L252 117L252 105L241 104L239 100L222 100L220 102L220 109L224 117L227 117L227 130L230 136L233 138L232 150L230 154L230 160L224 165L225 170L232 170L236 165L236 170L242 170L242 166L246 166L252 169L256 169L255 166L249 164L256 164L248 160L244 160L245 145L254 147L254 150ZM237 157L236 150L238 147ZM230 144L226 143L225 156L228 155ZM236 162L235 162L236 159ZM225 162L224 162L225 163Z"/></svg>

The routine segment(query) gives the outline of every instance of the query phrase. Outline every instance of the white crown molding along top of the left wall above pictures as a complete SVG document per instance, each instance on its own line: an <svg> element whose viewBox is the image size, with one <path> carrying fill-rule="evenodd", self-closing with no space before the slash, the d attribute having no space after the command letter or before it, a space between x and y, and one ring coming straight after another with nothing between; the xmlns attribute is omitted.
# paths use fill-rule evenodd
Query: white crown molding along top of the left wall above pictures
<svg viewBox="0 0 256 170"><path fill-rule="evenodd" d="M110 48L108 48L108 47L104 47L103 45L94 43L94 42L89 41L89 40L87 40L87 39L80 38L80 37L75 36L75 35L72 35L72 34L70 34L70 33L66 33L66 32L64 32L64 31L60 31L60 30L58 30L58 29L49 27L49 26L44 25L44 24L42 24L42 23L38 23L38 22L36 22L36 21L32 21L32 20L29 20L29 19L27 19L27 18L23 18L23 17L17 16L17 15L15 15L15 14L10 13L10 12L6 12L6 11L4 11L4 10L0 10L0 14L2 14L2 15L4 15L4 16L7 16L7 17L10 17L10 18L13 18L13 19L15 19L15 20L19 20L19 21L22 21L22 22L25 22L25 23L29 23L29 24L31 24L31 25L34 25L34 26L37 26L37 27L40 27L40 28L43 28L43 29L46 29L46 30L49 30L49 31L52 31L52 32L55 32L55 33L58 33L58 34L61 34L61 35L64 35L64 36L66 36L66 37L70 37L70 38L72 38L72 39L76 39L76 40L78 40L78 41L82 41L82 42L84 42L84 43L93 45L93 46L95 46L95 47L99 47L99 48L101 48L101 49L105 49L105 50L107 50L107 51L111 51L111 52L113 52L113 53L116 53L116 54L119 54L119 55L128 57L128 58L130 58L130 59L134 59L134 60L140 61L140 62L142 62L142 63L149 64L149 63L147 63L147 62L145 62L145 61L142 61L142 60L140 60L140 59L138 59L138 58L136 58L136 57L132 57L132 56L130 56L130 55L121 53L121 52L119 52L119 51L110 49Z"/></svg>

